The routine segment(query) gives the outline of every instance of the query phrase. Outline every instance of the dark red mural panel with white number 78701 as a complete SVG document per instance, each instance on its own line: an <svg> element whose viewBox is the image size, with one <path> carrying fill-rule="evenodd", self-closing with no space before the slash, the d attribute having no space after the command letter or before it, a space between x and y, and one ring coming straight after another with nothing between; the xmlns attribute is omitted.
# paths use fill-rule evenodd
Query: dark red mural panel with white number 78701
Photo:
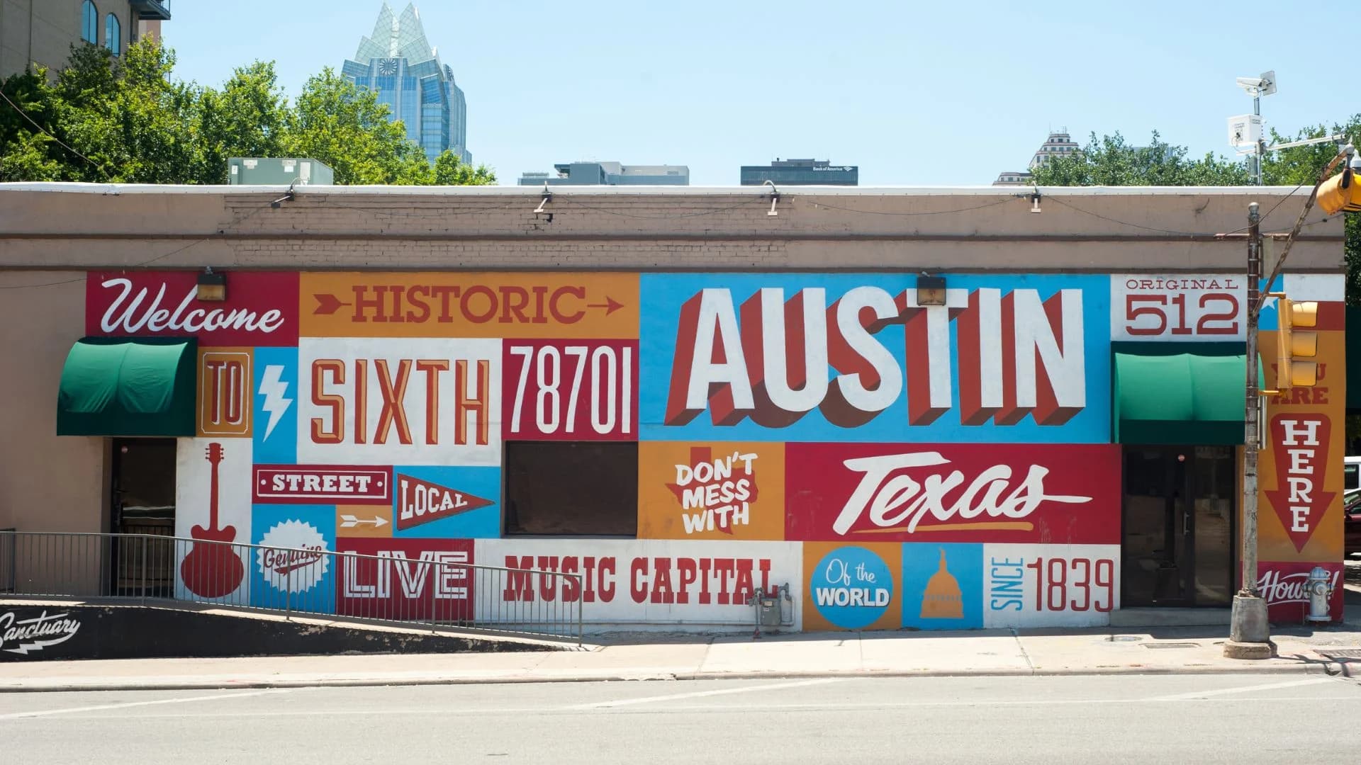
<svg viewBox="0 0 1361 765"><path fill-rule="evenodd" d="M505 340L506 441L637 441L637 340Z"/></svg>

